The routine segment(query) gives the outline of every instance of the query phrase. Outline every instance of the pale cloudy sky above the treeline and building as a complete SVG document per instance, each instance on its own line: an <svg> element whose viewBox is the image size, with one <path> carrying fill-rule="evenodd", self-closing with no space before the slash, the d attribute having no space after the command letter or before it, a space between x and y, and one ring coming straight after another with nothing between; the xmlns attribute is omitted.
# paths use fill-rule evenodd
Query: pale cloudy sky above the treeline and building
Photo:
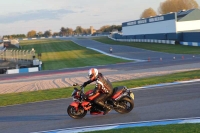
<svg viewBox="0 0 200 133"><path fill-rule="evenodd" d="M59 32L61 27L99 29L137 20L165 0L0 0L0 36L28 31ZM196 0L200 5L200 0Z"/></svg>

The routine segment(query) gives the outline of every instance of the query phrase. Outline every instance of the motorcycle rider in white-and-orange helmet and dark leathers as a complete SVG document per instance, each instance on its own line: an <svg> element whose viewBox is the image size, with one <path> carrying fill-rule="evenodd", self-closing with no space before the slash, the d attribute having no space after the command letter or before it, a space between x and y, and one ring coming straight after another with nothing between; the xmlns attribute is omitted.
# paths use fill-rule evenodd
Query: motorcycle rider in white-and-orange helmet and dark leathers
<svg viewBox="0 0 200 133"><path fill-rule="evenodd" d="M113 87L111 82L105 78L101 73L98 72L96 68L91 68L89 70L89 80L84 82L82 87L96 81L96 86L93 90L93 94L100 92L101 94L94 100L94 102L104 108L104 115L107 114L111 107L105 104L105 100L110 97L113 93Z"/></svg>

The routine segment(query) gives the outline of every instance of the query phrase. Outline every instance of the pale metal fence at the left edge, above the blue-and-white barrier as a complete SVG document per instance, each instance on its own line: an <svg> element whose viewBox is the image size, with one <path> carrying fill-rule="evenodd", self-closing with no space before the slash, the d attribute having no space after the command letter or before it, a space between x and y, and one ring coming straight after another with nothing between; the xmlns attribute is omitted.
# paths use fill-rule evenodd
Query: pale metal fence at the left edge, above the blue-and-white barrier
<svg viewBox="0 0 200 133"><path fill-rule="evenodd" d="M0 53L0 59L6 61L31 61L35 56L34 50L5 50Z"/></svg>

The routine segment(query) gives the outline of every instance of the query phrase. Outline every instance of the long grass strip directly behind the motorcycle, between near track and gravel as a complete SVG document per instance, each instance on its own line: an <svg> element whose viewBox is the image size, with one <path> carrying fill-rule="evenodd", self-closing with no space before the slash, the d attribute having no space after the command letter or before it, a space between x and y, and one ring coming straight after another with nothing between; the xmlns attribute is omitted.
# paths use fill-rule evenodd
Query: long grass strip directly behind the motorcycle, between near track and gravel
<svg viewBox="0 0 200 133"><path fill-rule="evenodd" d="M169 83L174 81L182 81L189 79L199 79L200 70L175 73L165 76L156 76L150 78L141 78L126 80L120 82L113 82L113 86L125 85L128 88L141 87L146 85L158 84L158 83ZM92 89L94 85L88 85L85 91ZM22 93L12 93L12 94L1 94L0 95L0 106L23 104L28 102L36 102L43 100L53 100L60 98L68 98L71 96L73 87L61 88L61 89L49 89L33 92L22 92Z"/></svg>

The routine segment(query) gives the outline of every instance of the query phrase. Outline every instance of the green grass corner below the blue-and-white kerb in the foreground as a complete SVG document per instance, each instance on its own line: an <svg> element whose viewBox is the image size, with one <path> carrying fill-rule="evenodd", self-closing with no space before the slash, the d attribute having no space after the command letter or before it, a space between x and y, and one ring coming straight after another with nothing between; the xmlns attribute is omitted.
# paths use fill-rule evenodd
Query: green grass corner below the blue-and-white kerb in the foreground
<svg viewBox="0 0 200 133"><path fill-rule="evenodd" d="M87 133L199 133L200 123L173 124L165 126L134 127L115 130L94 131Z"/></svg>

